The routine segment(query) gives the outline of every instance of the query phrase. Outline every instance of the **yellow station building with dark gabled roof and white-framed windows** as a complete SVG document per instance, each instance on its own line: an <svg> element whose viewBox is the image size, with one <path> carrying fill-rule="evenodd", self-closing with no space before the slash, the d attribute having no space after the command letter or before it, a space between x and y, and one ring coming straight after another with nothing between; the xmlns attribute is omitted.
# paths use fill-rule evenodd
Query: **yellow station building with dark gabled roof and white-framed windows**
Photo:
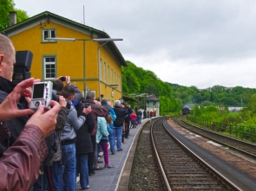
<svg viewBox="0 0 256 191"><path fill-rule="evenodd" d="M95 91L96 98L112 102L121 99L121 66L128 65L115 41L108 41L107 33L48 11L11 25L1 33L10 37L16 51L32 52L31 77L55 80L69 75L81 92ZM102 38L108 40L93 41Z"/></svg>

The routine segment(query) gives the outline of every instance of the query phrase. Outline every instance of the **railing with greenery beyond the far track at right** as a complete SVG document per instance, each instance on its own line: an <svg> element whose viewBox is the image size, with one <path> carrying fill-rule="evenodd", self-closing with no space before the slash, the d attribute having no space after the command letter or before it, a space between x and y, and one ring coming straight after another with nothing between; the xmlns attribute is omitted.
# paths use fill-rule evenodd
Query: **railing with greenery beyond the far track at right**
<svg viewBox="0 0 256 191"><path fill-rule="evenodd" d="M256 127L204 120L200 118L193 118L191 116L187 116L187 119L198 124L200 127L220 132L221 134L226 134L231 137L240 138L244 141L256 143Z"/></svg>

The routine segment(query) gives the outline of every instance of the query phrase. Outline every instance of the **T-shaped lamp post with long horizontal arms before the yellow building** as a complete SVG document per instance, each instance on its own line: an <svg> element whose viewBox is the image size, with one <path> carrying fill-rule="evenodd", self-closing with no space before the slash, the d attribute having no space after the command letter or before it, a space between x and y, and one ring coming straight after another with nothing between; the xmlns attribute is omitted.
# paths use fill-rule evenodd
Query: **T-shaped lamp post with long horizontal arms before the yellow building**
<svg viewBox="0 0 256 191"><path fill-rule="evenodd" d="M83 48L83 96L86 96L86 76L85 76L85 41L122 41L120 38L98 38L98 39L84 39L84 38L46 38L49 41L82 41L82 48ZM105 44L104 43L104 44ZM100 77L100 76L99 76Z"/></svg>

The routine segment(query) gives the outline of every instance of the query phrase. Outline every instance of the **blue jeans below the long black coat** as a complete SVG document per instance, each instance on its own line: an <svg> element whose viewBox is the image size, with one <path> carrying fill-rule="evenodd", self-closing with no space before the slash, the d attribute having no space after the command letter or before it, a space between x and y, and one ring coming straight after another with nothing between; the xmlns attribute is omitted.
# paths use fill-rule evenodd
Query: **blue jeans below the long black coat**
<svg viewBox="0 0 256 191"><path fill-rule="evenodd" d="M89 185L88 153L76 154L77 170L80 175L81 188Z"/></svg>

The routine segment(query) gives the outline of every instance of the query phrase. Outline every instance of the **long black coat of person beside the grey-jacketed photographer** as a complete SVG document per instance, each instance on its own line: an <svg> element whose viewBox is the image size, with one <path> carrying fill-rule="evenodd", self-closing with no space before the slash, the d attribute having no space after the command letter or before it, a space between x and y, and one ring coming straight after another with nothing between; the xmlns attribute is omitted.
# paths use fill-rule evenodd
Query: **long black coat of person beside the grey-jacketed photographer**
<svg viewBox="0 0 256 191"><path fill-rule="evenodd" d="M83 108L83 104L75 105L77 117L82 115ZM92 113L90 112L86 116L86 121L84 122L84 124L82 124L80 129L76 131L75 149L77 154L94 152L92 141L90 138L90 133L93 131L94 127L95 120L93 118Z"/></svg>

